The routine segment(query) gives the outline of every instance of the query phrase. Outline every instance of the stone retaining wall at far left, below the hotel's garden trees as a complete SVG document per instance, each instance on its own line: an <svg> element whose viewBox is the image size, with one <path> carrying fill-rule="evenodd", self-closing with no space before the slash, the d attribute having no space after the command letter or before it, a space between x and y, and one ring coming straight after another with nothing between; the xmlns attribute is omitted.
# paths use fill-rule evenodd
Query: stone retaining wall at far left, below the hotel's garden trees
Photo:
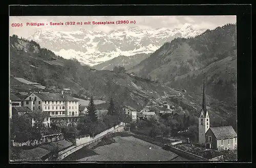
<svg viewBox="0 0 256 168"><path fill-rule="evenodd" d="M27 142L14 142L11 140L11 146L13 147L36 147L38 145L53 143L56 141L63 140L63 133L51 134L51 135L43 135L41 139L31 139Z"/></svg>

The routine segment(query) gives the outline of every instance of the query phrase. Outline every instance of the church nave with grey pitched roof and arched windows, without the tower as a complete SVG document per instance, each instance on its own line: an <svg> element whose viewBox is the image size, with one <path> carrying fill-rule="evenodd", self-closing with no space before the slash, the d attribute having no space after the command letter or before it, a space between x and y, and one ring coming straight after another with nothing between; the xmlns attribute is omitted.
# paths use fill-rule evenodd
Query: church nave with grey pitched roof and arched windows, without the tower
<svg viewBox="0 0 256 168"><path fill-rule="evenodd" d="M237 148L237 133L232 126L210 127L205 133L205 146L215 150Z"/></svg>

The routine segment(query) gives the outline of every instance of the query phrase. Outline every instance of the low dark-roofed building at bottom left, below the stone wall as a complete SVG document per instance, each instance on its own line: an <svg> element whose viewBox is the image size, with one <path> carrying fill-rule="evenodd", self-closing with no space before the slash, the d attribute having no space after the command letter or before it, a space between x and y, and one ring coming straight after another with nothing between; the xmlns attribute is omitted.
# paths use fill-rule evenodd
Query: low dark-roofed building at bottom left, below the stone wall
<svg viewBox="0 0 256 168"><path fill-rule="evenodd" d="M51 151L37 147L33 149L21 150L20 151L20 161L33 161L42 160L48 161L50 158Z"/></svg>

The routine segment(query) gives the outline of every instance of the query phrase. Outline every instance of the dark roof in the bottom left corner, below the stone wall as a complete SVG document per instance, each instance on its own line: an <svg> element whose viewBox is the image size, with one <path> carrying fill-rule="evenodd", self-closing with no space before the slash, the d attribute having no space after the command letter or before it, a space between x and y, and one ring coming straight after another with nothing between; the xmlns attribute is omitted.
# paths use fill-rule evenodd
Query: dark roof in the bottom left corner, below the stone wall
<svg viewBox="0 0 256 168"><path fill-rule="evenodd" d="M51 151L37 147L28 150L20 151L20 159L32 159L32 158L42 158L51 153Z"/></svg>

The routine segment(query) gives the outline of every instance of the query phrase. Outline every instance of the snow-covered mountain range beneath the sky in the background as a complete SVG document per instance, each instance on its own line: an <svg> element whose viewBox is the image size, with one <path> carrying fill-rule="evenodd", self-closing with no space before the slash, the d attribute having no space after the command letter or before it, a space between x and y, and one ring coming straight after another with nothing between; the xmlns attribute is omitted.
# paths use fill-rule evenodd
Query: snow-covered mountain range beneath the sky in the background
<svg viewBox="0 0 256 168"><path fill-rule="evenodd" d="M177 37L194 37L204 30L195 30L190 24L181 29L130 29L101 31L53 31L37 30L28 40L36 41L41 47L52 50L63 58L75 58L90 66L111 60L119 55L152 53L167 41Z"/></svg>

